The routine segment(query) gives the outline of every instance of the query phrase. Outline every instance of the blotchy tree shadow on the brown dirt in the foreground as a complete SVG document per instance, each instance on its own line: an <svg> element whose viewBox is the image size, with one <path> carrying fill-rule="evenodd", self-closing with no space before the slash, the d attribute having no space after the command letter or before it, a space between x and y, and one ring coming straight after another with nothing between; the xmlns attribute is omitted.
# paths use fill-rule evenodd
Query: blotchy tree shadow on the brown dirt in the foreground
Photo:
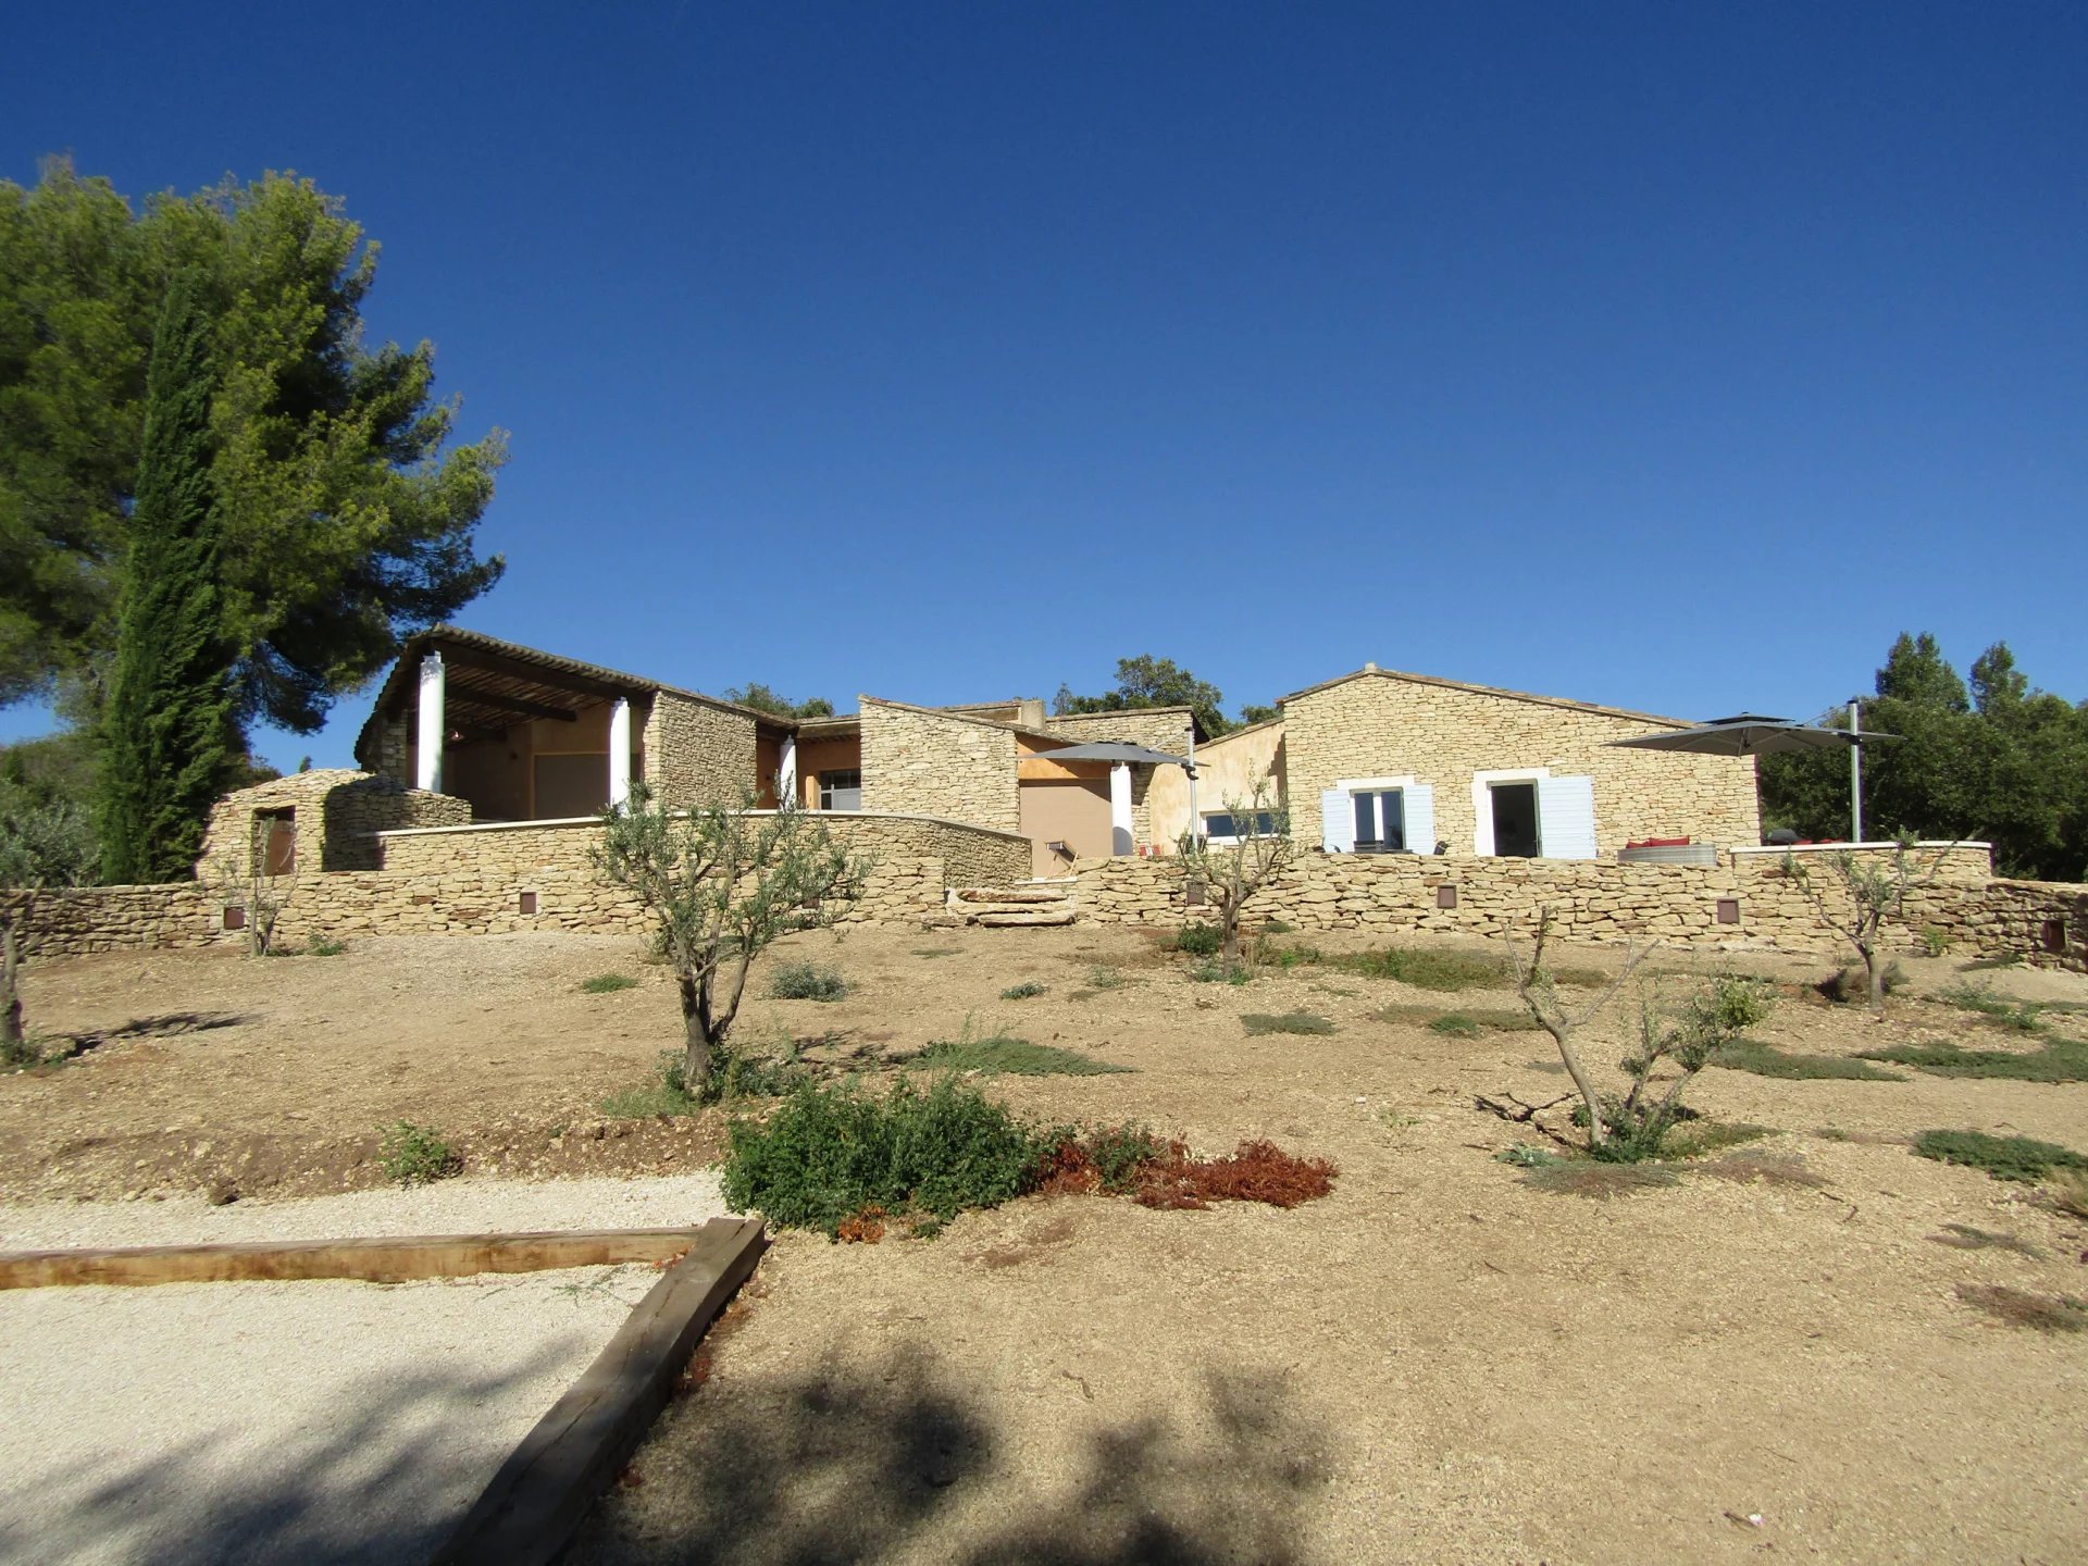
<svg viewBox="0 0 2088 1566"><path fill-rule="evenodd" d="M1065 1389L1086 1391L1061 1372ZM948 1560L1205 1566L1297 1560L1324 1441L1280 1376L1205 1370L1167 1411L1100 1424L1025 1482L1063 1420L1002 1424L915 1347L677 1403L568 1553L574 1566Z"/></svg>

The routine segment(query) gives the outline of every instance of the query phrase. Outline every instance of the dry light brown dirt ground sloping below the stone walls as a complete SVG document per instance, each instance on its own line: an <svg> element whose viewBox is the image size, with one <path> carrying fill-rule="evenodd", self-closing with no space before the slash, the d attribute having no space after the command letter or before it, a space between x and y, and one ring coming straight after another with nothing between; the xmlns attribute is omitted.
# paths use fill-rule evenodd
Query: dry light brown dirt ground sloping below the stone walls
<svg viewBox="0 0 2088 1566"><path fill-rule="evenodd" d="M1712 1069L1693 1102L1773 1134L1593 1201L1497 1163L1533 1136L1472 1105L1558 1096L1549 1040L1370 1017L1505 992L1326 969L1192 983L1146 935L1084 927L791 948L854 990L756 1000L752 1038L875 1061L967 1017L1006 1025L1134 1067L996 1079L1025 1113L1142 1119L1201 1153L1270 1136L1340 1178L1295 1211L1029 1199L935 1242L783 1236L576 1560L2088 1558L2088 1334L1956 1292L2088 1295L2088 1226L1904 1146L1973 1128L2088 1150L2088 1084ZM1917 990L2088 998L2071 975L1908 969ZM601 971L641 986L580 994ZM1021 981L1046 994L1000 998ZM689 1121L620 1136L597 1109L677 1034L672 988L628 942L79 958L33 969L27 1000L35 1025L102 1042L0 1077L17 1194L374 1184L374 1128L401 1117L478 1173L654 1173L718 1144ZM1336 1031L1240 1023L1292 1009ZM1591 1057L1622 1054L1622 1021ZM1796 986L1756 1036L1810 1052L2015 1038L1923 1000L1873 1025ZM2015 1249L1963 1249L1967 1230Z"/></svg>

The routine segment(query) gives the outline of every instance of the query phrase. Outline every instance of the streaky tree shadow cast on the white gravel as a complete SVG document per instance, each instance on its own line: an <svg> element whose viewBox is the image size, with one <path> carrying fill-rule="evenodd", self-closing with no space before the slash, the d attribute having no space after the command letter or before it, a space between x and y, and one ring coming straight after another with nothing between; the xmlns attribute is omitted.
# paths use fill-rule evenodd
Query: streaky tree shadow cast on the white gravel
<svg viewBox="0 0 2088 1566"><path fill-rule="evenodd" d="M459 1430L487 1399L553 1363L557 1349L482 1376L370 1372L334 1407L311 1409L305 1439L255 1451L242 1449L228 1407L223 1426L180 1451L138 1462L111 1453L44 1487L31 1505L0 1508L0 1560L420 1566L512 1449L459 1451Z"/></svg>

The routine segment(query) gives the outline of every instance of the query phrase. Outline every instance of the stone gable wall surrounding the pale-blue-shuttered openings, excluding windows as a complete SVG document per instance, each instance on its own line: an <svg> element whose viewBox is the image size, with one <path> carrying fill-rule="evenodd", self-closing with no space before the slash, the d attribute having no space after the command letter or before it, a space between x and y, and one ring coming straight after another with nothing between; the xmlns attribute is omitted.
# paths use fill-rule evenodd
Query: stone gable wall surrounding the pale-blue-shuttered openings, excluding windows
<svg viewBox="0 0 2088 1566"><path fill-rule="evenodd" d="M1451 854L1476 848L1472 775L1549 768L1595 781L1595 841L1614 854L1641 837L1760 844L1754 762L1606 750L1604 741L1660 733L1645 718L1574 702L1522 697L1399 674L1359 674L1284 702L1290 829L1318 848L1320 793L1343 779L1414 777L1434 787L1437 837Z"/></svg>

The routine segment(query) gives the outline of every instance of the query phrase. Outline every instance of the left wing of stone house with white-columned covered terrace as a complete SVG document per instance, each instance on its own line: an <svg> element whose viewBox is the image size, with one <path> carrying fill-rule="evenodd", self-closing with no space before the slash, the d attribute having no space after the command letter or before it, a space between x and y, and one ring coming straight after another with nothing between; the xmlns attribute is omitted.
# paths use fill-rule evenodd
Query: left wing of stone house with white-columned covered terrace
<svg viewBox="0 0 2088 1566"><path fill-rule="evenodd" d="M858 697L781 718L641 674L436 626L378 691L355 756L374 779L461 800L472 823L576 821L643 781L668 804L929 816L1017 833L1031 873L1157 844L1150 758L1052 760L1123 741L1178 756L1188 708L1050 716L1038 699L927 708Z"/></svg>

